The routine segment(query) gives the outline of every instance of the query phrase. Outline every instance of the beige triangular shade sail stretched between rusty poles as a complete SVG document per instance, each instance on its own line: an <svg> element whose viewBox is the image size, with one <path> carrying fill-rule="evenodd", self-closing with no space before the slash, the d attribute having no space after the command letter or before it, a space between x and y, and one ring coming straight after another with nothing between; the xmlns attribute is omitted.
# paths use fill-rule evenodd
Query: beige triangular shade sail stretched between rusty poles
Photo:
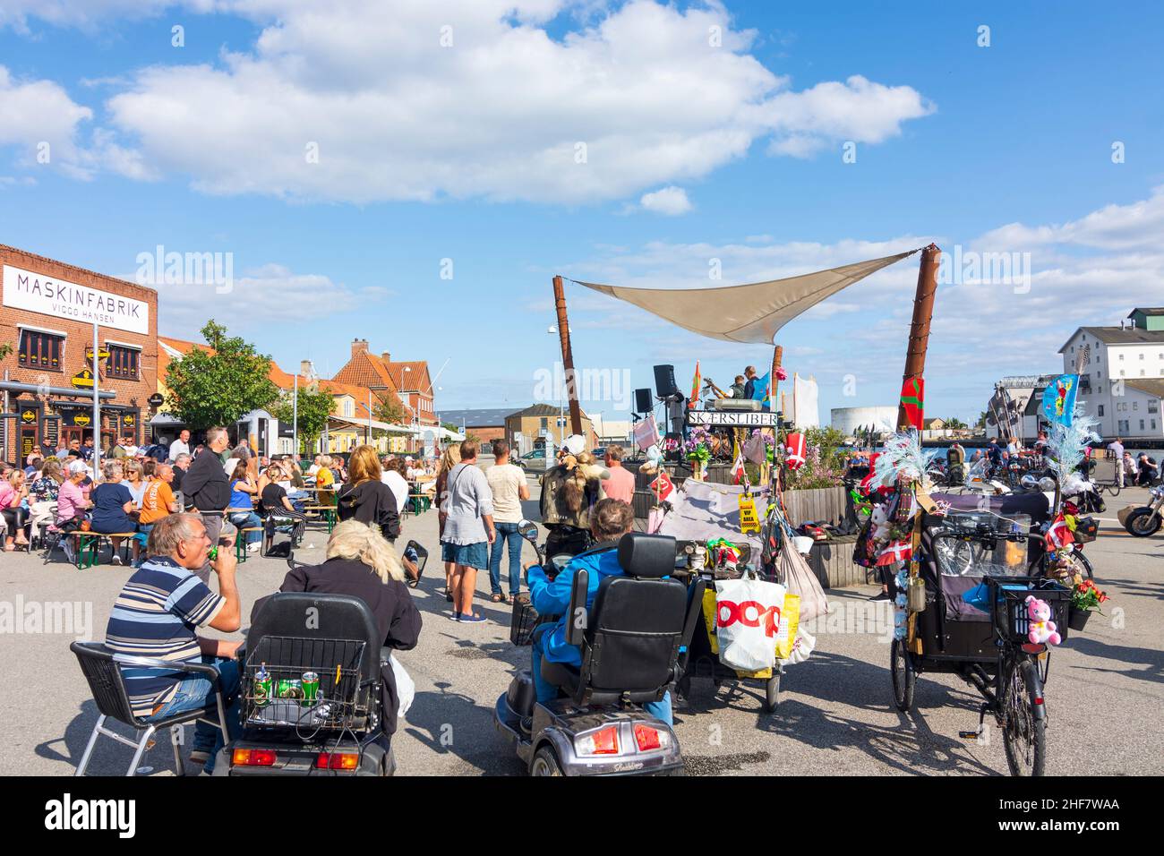
<svg viewBox="0 0 1164 856"><path fill-rule="evenodd" d="M627 289L573 280L579 285L633 303L700 335L772 345L776 331L796 316L881 268L916 253L854 262L815 274L714 289Z"/></svg>

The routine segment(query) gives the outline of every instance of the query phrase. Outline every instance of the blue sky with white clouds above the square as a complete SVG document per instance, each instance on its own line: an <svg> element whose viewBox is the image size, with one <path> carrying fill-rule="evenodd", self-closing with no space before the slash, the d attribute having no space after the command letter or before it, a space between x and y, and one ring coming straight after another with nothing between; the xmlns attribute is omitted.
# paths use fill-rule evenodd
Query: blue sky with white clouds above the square
<svg viewBox="0 0 1164 856"><path fill-rule="evenodd" d="M229 253L228 295L158 285L164 334L213 316L325 374L356 337L448 359L448 409L530 403L555 273L689 288L930 240L1017 254L1018 285L938 293L927 413L973 418L996 377L1164 295L1164 10L1014 6L0 0L0 242L127 278L157 245ZM824 422L895 402L915 260L779 333ZM771 360L567 293L577 365L631 387Z"/></svg>

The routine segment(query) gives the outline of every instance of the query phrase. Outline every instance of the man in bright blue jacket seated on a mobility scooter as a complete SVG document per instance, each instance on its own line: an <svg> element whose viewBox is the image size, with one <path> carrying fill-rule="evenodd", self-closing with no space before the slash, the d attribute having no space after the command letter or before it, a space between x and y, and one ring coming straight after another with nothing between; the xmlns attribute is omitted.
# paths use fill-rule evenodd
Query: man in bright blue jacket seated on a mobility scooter
<svg viewBox="0 0 1164 856"><path fill-rule="evenodd" d="M623 568L618 565L617 544L618 539L633 528L634 510L630 503L620 500L601 500L590 510L590 532L598 546L574 557L553 580L548 579L546 572L538 565L527 568L526 581L530 586L530 602L533 603L533 608L538 610L539 615L561 616L556 623L544 624L534 632L533 686L538 693L538 701L545 703L558 698L558 687L541 677L542 657L553 663L565 663L570 666L582 665L581 649L566 641L566 613L570 606L574 574L581 568L585 568L589 574L585 606L587 609L591 609L602 581L608 576L623 575ZM647 702L643 709L656 720L661 720L668 726L673 724L670 693L663 695L662 701Z"/></svg>

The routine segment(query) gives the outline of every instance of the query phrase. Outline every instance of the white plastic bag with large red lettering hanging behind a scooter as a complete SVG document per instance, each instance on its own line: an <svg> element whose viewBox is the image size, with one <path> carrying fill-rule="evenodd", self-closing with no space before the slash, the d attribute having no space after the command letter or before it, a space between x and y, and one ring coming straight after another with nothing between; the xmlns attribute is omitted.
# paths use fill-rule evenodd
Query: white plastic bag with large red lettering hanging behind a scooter
<svg viewBox="0 0 1164 856"><path fill-rule="evenodd" d="M716 582L716 638L719 662L729 668L758 672L776 663L787 589L757 579Z"/></svg>

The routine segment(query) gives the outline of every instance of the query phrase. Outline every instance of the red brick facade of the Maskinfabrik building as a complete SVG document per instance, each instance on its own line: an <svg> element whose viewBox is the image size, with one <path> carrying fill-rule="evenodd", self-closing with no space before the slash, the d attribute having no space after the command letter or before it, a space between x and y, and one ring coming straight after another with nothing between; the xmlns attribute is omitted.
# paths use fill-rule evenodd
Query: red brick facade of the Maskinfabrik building
<svg viewBox="0 0 1164 856"><path fill-rule="evenodd" d="M0 292L5 288L2 278L3 266L12 266L30 271L42 277L42 281L68 282L74 285L83 285L105 292L106 295L141 300L147 305L148 324L144 333L120 330L102 324L98 337L100 347L102 348L107 341L115 341L140 348L137 380L108 377L108 373L102 365L100 388L116 392L114 398L102 399L102 408L108 406L109 415L116 413L119 417L132 416L134 425L132 429L126 430L132 430L135 443L141 444L148 436L146 423L152 416L147 399L157 391L157 291L0 245ZM71 388L73 375L87 367L85 348L91 347L93 344L92 321L74 317L61 317L52 311L42 312L15 307L9 305L14 299L16 297L12 293L6 297L0 295L0 342L6 342L13 348L13 353L0 361L0 376L2 376L2 372L7 372L9 381ZM48 304L47 299L45 303ZM20 365L20 325L57 331L65 334L61 365L57 370ZM64 429L72 427L66 425L71 418L70 409L57 406L54 402L90 405L92 403L92 391L77 390L74 396L29 394L20 394L17 396L16 394L9 394L7 412L13 412L19 403L23 405L20 412L31 412L35 423L27 423L20 419L5 420L7 431L5 432L3 457L6 460L15 460L19 454L17 447L22 436L21 429L28 434L34 434L35 432L36 443L45 444L51 440L54 423L56 423L55 430L58 437ZM91 425L86 426L87 430L91 430ZM118 427L120 434L120 429L125 426L119 424Z"/></svg>

